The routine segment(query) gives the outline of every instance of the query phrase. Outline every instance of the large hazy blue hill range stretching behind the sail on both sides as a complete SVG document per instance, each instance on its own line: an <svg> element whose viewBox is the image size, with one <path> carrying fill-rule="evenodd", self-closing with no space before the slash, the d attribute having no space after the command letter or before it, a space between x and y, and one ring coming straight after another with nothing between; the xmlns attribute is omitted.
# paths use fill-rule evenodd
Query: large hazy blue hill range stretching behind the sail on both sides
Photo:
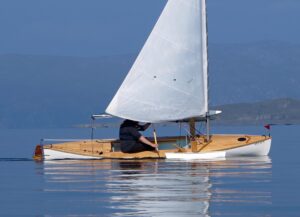
<svg viewBox="0 0 300 217"><path fill-rule="evenodd" d="M0 55L0 128L88 122L105 110L135 56ZM210 45L210 104L300 99L299 56L300 45L280 42Z"/></svg>

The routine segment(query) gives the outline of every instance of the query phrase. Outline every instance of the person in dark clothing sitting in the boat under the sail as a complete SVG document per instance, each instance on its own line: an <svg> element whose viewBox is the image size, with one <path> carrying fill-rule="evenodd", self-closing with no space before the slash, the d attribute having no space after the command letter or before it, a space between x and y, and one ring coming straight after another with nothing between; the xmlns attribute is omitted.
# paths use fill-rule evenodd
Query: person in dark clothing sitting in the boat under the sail
<svg viewBox="0 0 300 217"><path fill-rule="evenodd" d="M120 126L121 151L137 153L141 151L155 151L157 144L150 142L139 131L145 131L151 124L139 125L137 121L125 120Z"/></svg>

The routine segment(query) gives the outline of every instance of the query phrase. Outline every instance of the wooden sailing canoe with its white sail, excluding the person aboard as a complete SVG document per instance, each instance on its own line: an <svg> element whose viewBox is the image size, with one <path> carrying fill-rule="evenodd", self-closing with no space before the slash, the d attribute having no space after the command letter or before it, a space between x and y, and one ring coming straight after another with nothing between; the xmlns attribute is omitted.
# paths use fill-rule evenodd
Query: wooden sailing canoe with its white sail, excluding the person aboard
<svg viewBox="0 0 300 217"><path fill-rule="evenodd" d="M159 150L126 154L117 139L38 145L35 159L213 159L264 156L270 136L210 135L206 0L169 0L108 105L114 117L144 123L190 122L186 137L154 136ZM206 123L197 136L195 121ZM200 121L201 121L200 120ZM49 142L49 141L48 141ZM183 145L182 145L183 144Z"/></svg>

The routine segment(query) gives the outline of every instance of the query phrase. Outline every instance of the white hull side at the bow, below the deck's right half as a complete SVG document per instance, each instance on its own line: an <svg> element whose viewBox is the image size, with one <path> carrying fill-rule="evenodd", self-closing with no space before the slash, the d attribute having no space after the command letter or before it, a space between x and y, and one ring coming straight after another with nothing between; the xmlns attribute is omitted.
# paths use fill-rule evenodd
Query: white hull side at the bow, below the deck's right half
<svg viewBox="0 0 300 217"><path fill-rule="evenodd" d="M166 153L167 159L209 160L239 156L267 156L271 149L271 139L249 144L243 147L206 153Z"/></svg>

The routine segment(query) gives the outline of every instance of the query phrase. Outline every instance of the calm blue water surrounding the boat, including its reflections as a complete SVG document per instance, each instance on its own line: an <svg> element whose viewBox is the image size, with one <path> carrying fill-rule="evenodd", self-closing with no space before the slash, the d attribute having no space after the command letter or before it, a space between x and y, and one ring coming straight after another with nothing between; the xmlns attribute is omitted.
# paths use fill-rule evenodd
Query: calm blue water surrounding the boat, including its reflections
<svg viewBox="0 0 300 217"><path fill-rule="evenodd" d="M262 158L36 163L39 138L89 132L0 130L0 216L300 216L300 127L272 134Z"/></svg>

